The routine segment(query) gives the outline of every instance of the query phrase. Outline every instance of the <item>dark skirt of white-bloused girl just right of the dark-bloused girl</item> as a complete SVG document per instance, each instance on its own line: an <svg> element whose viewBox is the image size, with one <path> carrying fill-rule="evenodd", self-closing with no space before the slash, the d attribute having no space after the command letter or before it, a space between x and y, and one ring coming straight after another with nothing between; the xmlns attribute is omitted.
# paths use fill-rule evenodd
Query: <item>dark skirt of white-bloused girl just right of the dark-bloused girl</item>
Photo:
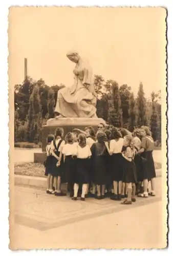
<svg viewBox="0 0 173 256"><path fill-rule="evenodd" d="M113 181L122 181L123 178L123 157L121 153L111 156L111 173Z"/></svg>

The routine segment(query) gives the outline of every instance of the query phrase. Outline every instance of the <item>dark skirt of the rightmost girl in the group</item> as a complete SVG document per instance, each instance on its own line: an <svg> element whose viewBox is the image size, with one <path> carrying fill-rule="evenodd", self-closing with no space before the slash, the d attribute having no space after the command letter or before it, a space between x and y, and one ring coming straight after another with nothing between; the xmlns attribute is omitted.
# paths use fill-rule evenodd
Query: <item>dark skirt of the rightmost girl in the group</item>
<svg viewBox="0 0 173 256"><path fill-rule="evenodd" d="M141 154L143 165L143 179L148 181L156 177L155 164L152 151L145 151Z"/></svg>

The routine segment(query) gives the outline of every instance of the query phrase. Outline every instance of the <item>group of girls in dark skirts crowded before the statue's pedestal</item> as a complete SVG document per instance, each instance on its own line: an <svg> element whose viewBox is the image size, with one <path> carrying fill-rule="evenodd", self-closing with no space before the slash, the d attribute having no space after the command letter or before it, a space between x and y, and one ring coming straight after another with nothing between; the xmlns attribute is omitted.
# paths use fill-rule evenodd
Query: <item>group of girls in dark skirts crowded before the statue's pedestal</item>
<svg viewBox="0 0 173 256"><path fill-rule="evenodd" d="M82 201L88 197L110 197L119 201L124 198L121 204L132 204L136 195L155 196L154 141L147 126L133 133L112 125L105 130L102 126L96 136L89 126L62 138L63 129L57 128L55 136L49 135L47 139L48 194L66 196L61 189L64 183L74 201L78 197Z"/></svg>

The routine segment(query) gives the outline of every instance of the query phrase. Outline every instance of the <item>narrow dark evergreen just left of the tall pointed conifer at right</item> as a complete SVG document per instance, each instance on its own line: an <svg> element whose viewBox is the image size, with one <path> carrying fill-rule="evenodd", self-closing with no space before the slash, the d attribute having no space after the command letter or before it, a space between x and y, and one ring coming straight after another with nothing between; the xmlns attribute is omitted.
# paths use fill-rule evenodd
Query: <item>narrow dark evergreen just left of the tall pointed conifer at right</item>
<svg viewBox="0 0 173 256"><path fill-rule="evenodd" d="M131 93L129 100L129 131L133 132L136 126L136 101L134 93Z"/></svg>

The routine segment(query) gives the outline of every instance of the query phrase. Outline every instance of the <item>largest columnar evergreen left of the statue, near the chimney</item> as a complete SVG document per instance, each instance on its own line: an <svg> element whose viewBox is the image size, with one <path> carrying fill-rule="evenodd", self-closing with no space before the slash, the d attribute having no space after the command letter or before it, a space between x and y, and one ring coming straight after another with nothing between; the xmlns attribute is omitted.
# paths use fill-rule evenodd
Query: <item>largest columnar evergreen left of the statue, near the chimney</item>
<svg viewBox="0 0 173 256"><path fill-rule="evenodd" d="M27 135L30 142L39 141L40 123L41 123L41 104L39 96L38 84L34 85L32 94L29 100L28 111L28 129Z"/></svg>

